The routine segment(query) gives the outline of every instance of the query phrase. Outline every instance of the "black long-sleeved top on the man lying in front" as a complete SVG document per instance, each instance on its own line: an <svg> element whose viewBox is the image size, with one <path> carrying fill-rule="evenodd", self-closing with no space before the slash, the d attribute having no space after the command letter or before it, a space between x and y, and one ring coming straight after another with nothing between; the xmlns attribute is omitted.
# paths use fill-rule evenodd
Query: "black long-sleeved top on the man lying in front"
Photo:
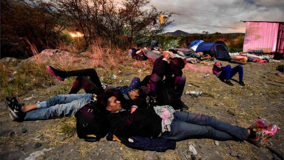
<svg viewBox="0 0 284 160"><path fill-rule="evenodd" d="M162 131L162 119L152 107L137 108L135 112L120 111L108 116L111 133L118 137L158 137Z"/></svg>

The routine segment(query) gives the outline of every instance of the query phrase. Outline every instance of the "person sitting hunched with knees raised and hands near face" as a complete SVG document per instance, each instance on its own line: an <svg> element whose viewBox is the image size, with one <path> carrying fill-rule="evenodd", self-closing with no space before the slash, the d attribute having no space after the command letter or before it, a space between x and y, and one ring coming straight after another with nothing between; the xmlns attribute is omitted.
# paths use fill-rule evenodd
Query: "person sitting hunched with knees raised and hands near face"
<svg viewBox="0 0 284 160"><path fill-rule="evenodd" d="M155 60L149 80L151 86L150 95L153 99L157 98L157 92L161 88L164 76L164 84L175 88L178 98L182 96L186 82L185 76L182 76L182 69L184 68L185 63L181 58L173 58L171 61L169 61L169 58L170 54L168 52L164 52L163 57Z"/></svg>

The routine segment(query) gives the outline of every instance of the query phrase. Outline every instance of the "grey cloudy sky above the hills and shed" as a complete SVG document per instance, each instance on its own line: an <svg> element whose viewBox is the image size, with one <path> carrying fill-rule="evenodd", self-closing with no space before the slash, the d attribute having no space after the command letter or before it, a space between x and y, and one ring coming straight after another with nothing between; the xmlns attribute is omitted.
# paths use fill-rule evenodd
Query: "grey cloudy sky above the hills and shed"
<svg viewBox="0 0 284 160"><path fill-rule="evenodd" d="M283 0L151 0L150 5L179 14L171 17L175 22L166 32L245 33L240 20L283 22L284 16Z"/></svg>

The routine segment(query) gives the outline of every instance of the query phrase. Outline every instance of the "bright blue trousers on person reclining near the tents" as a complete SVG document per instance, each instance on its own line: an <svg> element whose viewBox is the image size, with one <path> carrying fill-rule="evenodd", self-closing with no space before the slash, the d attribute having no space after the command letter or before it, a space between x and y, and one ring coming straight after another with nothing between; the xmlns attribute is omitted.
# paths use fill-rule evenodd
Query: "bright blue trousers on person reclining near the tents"
<svg viewBox="0 0 284 160"><path fill-rule="evenodd" d="M231 65L227 65L222 68L222 72L218 77L221 80L230 80L237 73L239 73L239 81L243 81L244 69L241 65L237 65L234 68Z"/></svg>

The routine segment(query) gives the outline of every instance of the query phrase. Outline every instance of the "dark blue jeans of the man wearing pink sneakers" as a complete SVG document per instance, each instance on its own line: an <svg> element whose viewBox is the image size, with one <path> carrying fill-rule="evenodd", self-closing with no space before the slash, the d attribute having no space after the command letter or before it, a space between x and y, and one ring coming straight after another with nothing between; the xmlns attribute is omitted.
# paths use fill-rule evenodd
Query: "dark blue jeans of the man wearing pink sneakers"
<svg viewBox="0 0 284 160"><path fill-rule="evenodd" d="M161 138L185 140L210 138L214 140L247 140L247 129L219 121L208 115L189 112L174 113L171 131L162 133Z"/></svg>

